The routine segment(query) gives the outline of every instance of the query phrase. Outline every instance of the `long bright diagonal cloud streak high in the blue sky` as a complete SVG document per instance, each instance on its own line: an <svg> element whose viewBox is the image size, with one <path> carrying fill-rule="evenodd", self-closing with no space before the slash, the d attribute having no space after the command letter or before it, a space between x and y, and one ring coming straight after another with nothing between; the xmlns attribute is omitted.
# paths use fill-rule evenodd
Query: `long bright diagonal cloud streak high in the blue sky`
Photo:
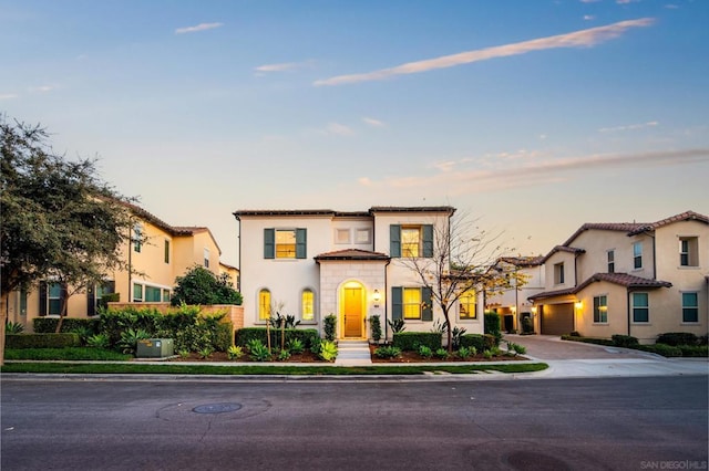
<svg viewBox="0 0 709 471"><path fill-rule="evenodd" d="M654 22L655 20L653 18L640 18L637 20L620 21L618 23L613 23L605 27L592 28L588 30L580 30L566 34L540 38L531 41L523 41L494 48L466 51L458 54L428 59L424 61L409 62L395 67L381 69L379 71L368 72L363 74L338 75L330 78L316 81L314 82L314 85L342 85L348 83L380 81L395 75L418 74L436 69L454 67L456 65L486 61L494 57L506 57L511 55L526 54L533 51L543 51L558 48L588 48L617 38L631 28L649 27Z"/></svg>

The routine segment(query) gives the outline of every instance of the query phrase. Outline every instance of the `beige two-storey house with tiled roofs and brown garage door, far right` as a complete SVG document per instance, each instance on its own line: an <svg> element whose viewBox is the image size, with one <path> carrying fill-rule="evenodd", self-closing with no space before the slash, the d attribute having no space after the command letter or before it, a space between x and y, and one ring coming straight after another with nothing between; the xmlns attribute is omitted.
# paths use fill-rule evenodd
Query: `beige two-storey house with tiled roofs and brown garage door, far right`
<svg viewBox="0 0 709 471"><path fill-rule="evenodd" d="M651 343L667 332L707 335L709 218L586 223L545 258L544 292L530 301L542 334Z"/></svg>

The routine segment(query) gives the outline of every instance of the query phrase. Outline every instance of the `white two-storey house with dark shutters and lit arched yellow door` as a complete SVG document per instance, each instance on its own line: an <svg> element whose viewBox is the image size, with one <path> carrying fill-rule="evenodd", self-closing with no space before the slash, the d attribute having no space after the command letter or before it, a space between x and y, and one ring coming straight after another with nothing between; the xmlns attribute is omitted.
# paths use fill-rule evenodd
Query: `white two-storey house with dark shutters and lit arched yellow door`
<svg viewBox="0 0 709 471"><path fill-rule="evenodd" d="M367 321L379 315L389 338L390 320L403 318L407 332L431 331L442 313L404 260L432 257L433 237L446 233L454 211L236 211L244 324L265 325L278 312L322 331L322 320L333 314L338 338L354 339L371 337ZM461 304L453 324L482 333L482 302L472 293Z"/></svg>

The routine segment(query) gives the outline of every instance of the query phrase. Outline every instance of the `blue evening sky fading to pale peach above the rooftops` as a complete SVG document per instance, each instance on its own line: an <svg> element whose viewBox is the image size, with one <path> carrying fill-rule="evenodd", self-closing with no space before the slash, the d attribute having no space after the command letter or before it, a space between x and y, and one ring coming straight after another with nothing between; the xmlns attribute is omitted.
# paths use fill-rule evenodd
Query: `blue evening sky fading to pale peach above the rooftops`
<svg viewBox="0 0 709 471"><path fill-rule="evenodd" d="M0 0L0 113L228 264L244 209L450 205L546 254L709 213L707 24L705 0Z"/></svg>

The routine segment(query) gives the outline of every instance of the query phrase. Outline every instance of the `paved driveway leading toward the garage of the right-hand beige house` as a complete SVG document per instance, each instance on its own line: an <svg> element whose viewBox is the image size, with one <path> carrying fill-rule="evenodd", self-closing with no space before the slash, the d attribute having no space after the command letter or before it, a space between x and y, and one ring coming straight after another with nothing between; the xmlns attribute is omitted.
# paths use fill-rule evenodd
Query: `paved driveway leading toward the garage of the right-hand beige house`
<svg viewBox="0 0 709 471"><path fill-rule="evenodd" d="M634 359L657 358L646 352L630 348L607 347L596 344L562 341L558 335L510 335L505 334L505 341L523 345L527 353L525 356L542 360L554 359Z"/></svg>

